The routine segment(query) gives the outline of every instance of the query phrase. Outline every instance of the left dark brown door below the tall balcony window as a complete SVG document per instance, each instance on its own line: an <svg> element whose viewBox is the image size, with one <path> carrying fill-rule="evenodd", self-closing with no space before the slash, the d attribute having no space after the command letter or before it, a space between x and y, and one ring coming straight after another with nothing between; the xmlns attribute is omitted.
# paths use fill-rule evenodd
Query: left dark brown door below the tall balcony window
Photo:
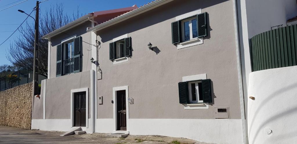
<svg viewBox="0 0 297 144"><path fill-rule="evenodd" d="M74 126L86 126L86 92L74 93Z"/></svg>

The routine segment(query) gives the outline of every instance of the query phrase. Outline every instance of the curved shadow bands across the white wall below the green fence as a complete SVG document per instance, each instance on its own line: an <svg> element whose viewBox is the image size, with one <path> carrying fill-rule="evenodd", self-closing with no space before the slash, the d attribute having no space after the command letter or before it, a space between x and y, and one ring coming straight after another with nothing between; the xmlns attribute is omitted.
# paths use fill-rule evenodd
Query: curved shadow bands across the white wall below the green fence
<svg viewBox="0 0 297 144"><path fill-rule="evenodd" d="M262 100L262 102L259 104L259 105L261 105L261 107L258 107L255 110L254 118L259 115L260 109L263 108L263 105L267 105L267 103L269 103L271 100L278 99L277 96L279 96L282 93L285 93L285 92L287 92L289 90L296 89L296 87L297 87L297 83L294 83L294 84L292 84L292 85L290 85L288 87L279 89L278 91L275 91L272 94L268 95L267 98ZM268 120L263 121L262 124L260 125L260 127L258 127L258 129L256 130L255 137L250 143L254 143L254 141L258 137L258 133L260 132L261 129L263 129L266 126L266 124L268 124L271 121L275 121L277 119L282 119L284 116L288 116L289 114L292 114L292 113L296 113L296 115L297 115L297 107L291 108L291 109L286 110L286 111L284 111L282 113L278 113L277 115L274 115L274 116L270 117ZM255 119L252 119L251 124L250 124L249 127L252 127L254 125L254 123L255 123ZM248 135L251 135L250 132L252 132L252 130L249 131Z"/></svg>

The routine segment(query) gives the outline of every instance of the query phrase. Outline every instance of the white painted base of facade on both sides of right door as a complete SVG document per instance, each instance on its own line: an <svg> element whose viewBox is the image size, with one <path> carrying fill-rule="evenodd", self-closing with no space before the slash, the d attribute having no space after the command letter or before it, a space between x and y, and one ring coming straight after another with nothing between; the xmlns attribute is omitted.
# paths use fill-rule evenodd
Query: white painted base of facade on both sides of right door
<svg viewBox="0 0 297 144"><path fill-rule="evenodd" d="M242 143L241 119L129 119L130 135L185 137L208 143ZM113 132L113 119L97 119L95 132Z"/></svg>

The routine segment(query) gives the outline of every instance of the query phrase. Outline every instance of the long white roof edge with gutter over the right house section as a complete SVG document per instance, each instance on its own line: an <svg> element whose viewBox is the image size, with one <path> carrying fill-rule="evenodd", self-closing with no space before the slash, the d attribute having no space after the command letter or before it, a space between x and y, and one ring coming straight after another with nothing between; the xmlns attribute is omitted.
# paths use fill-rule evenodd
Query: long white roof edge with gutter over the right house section
<svg viewBox="0 0 297 144"><path fill-rule="evenodd" d="M159 7L159 6L163 5L163 4L167 4L170 1L173 1L173 0L157 0L157 1L153 1L153 2L151 2L149 4L147 4L147 5L139 7L138 9L132 10L130 12L127 12L127 13L123 14L123 15L120 15L118 17L115 17L115 18L111 19L111 20L108 20L105 23L102 23L102 24L99 24L99 25L97 25L97 26L95 26L93 28L90 28L90 29L87 30L87 32L99 31L99 30L107 28L107 27L109 27L111 25L120 23L121 21L127 20L127 19L129 19L131 17L134 17L136 15L140 15L140 14L146 12L146 11L149 11L151 9Z"/></svg>

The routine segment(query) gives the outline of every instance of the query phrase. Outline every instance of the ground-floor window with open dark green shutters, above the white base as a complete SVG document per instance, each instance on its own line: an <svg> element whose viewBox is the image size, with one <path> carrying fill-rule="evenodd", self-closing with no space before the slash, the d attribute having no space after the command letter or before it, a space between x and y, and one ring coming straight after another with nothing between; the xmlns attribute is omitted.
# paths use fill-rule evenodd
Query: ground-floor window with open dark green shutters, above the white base
<svg viewBox="0 0 297 144"><path fill-rule="evenodd" d="M185 81L178 83L179 103L212 103L211 80Z"/></svg>

